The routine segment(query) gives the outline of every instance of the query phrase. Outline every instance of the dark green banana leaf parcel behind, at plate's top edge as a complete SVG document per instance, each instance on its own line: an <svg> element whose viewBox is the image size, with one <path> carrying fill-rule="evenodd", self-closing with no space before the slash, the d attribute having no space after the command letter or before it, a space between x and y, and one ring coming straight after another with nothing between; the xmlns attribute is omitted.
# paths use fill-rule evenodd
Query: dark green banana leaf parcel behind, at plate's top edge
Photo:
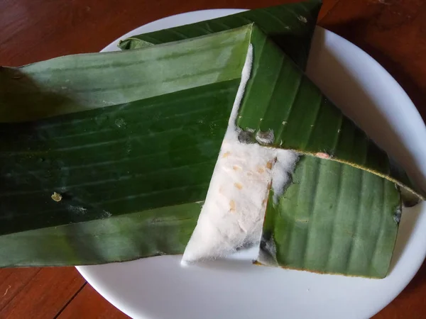
<svg viewBox="0 0 426 319"><path fill-rule="evenodd" d="M322 1L310 0L245 11L231 16L136 35L122 40L119 47L122 50L136 49L196 38L255 23L297 65L305 69L310 40L317 24L321 4Z"/></svg>

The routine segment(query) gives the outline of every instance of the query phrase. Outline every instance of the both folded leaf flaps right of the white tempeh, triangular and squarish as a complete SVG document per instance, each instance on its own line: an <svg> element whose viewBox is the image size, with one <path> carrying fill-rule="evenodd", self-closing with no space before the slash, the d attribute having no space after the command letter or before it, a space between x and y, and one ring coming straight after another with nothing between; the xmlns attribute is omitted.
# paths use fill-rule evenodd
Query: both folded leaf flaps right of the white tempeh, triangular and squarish
<svg viewBox="0 0 426 319"><path fill-rule="evenodd" d="M277 203L271 191L258 262L383 278L398 233L399 188L422 194L256 26L251 43L237 125L246 140L272 135L266 146L300 153Z"/></svg>

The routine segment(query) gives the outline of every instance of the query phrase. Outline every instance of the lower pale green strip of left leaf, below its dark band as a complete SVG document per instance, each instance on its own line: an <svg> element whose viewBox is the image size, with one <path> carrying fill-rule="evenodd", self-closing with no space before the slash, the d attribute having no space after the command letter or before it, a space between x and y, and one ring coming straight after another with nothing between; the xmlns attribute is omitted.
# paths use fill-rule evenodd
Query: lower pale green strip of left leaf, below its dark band
<svg viewBox="0 0 426 319"><path fill-rule="evenodd" d="M69 266L181 254L201 203L166 206L0 237L2 267Z"/></svg>

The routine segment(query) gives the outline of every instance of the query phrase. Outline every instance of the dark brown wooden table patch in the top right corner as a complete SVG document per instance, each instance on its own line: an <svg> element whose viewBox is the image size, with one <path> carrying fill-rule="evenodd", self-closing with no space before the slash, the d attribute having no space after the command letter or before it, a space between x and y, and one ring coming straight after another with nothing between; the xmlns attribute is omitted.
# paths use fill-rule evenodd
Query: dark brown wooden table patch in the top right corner
<svg viewBox="0 0 426 319"><path fill-rule="evenodd" d="M339 1L320 25L358 45L385 67L425 121L426 1Z"/></svg>

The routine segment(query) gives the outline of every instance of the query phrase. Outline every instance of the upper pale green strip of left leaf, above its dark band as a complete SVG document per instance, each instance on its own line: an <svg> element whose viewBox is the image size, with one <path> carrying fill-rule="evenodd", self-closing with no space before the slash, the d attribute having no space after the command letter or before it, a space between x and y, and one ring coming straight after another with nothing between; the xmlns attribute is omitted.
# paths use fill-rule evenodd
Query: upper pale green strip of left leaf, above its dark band
<svg viewBox="0 0 426 319"><path fill-rule="evenodd" d="M239 79L249 37L245 27L146 50L68 55L3 67L0 123L118 106Z"/></svg>

